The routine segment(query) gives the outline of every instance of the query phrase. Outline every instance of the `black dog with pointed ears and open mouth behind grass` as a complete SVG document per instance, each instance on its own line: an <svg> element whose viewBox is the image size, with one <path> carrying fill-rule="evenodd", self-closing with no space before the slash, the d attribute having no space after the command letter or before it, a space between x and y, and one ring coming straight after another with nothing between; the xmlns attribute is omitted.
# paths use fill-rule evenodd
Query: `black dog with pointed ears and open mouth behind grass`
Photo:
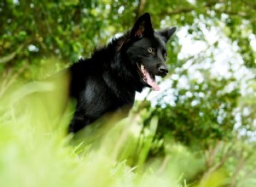
<svg viewBox="0 0 256 187"><path fill-rule="evenodd" d="M69 132L78 132L108 112L128 114L136 91L160 90L155 76L168 72L166 42L175 31L176 27L154 31L146 13L122 37L73 64L70 93L78 103Z"/></svg>

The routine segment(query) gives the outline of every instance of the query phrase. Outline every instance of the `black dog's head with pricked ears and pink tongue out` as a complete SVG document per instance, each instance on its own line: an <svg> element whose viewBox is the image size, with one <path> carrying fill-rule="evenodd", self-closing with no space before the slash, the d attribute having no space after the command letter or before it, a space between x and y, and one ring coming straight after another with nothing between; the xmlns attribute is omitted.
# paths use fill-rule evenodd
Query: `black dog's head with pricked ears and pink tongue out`
<svg viewBox="0 0 256 187"><path fill-rule="evenodd" d="M144 86L160 90L155 76L166 77L166 42L172 37L176 27L154 31L150 15L143 14L138 18L130 31L131 46L127 48L131 63L137 66L137 73Z"/></svg>

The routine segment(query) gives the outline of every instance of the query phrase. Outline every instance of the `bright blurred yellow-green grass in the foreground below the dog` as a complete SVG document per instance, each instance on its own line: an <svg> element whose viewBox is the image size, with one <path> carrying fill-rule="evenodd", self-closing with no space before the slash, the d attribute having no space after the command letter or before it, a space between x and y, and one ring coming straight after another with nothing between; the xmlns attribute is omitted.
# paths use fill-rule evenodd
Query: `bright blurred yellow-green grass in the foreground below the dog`
<svg viewBox="0 0 256 187"><path fill-rule="evenodd" d="M190 186L185 177L202 163L181 144L169 144L166 157L146 161L149 149L160 144L153 139L157 116L147 130L141 115L131 114L116 125L67 135L73 107L61 110L66 87L56 88L67 79L21 84L1 97L0 186ZM224 177L215 173L191 185L219 186L216 180Z"/></svg>

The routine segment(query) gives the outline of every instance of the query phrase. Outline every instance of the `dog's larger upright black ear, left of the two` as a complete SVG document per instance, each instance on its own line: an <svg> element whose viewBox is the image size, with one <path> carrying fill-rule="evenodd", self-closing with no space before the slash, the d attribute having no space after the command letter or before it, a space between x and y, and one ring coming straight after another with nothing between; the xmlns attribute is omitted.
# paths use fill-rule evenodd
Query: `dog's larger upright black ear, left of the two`
<svg viewBox="0 0 256 187"><path fill-rule="evenodd" d="M154 29L150 20L150 14L141 15L131 29L131 37L150 37L154 35Z"/></svg>

